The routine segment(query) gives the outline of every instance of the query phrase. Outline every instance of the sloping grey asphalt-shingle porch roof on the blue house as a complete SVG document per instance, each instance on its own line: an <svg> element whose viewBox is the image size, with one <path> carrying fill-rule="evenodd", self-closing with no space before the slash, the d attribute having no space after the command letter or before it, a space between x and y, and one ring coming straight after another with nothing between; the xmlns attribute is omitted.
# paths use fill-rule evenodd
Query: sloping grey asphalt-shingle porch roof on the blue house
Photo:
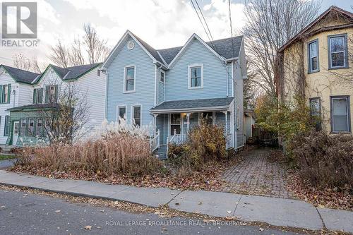
<svg viewBox="0 0 353 235"><path fill-rule="evenodd" d="M230 103L234 100L234 97L225 97L225 98L213 98L213 99L202 99L202 100L173 100L163 102L156 107L153 107L153 110L172 110L172 109L200 109L205 107L225 107L229 106Z"/></svg>

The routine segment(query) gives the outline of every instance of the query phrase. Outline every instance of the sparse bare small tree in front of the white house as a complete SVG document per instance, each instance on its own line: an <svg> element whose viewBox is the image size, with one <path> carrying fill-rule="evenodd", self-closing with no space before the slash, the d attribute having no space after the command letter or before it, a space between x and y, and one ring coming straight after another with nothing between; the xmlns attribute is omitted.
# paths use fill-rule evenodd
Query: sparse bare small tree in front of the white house
<svg viewBox="0 0 353 235"><path fill-rule="evenodd" d="M51 100L38 113L44 123L42 139L50 144L72 144L90 131L85 126L90 118L87 92L72 82L56 85L56 89L53 96L46 91Z"/></svg>

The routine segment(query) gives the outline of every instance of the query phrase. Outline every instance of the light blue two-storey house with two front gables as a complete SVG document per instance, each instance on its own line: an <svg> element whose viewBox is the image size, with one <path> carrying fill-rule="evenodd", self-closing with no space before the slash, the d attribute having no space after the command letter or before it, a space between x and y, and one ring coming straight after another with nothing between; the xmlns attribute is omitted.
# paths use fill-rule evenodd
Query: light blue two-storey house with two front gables
<svg viewBox="0 0 353 235"><path fill-rule="evenodd" d="M102 68L107 120L152 126L152 150L186 140L202 116L225 126L227 148L244 145L242 36L205 42L193 34L182 47L154 49L126 31Z"/></svg>

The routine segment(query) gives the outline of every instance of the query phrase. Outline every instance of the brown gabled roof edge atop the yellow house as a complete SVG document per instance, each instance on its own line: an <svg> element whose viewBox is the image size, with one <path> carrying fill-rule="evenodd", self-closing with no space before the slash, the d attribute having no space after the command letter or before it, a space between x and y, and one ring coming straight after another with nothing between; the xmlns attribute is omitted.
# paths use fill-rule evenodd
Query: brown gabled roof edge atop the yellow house
<svg viewBox="0 0 353 235"><path fill-rule="evenodd" d="M284 44L282 47L280 47L280 49L278 49L278 52L282 52L290 44L292 44L293 42L298 40L301 35L303 35L305 32L308 32L311 29L311 27L313 27L313 25L318 23L318 21L322 20L325 16L328 16L328 14L332 13L332 12L340 13L341 16L348 18L353 23L353 13L351 13L349 11L345 11L342 8L339 8L337 6L330 6L330 8L328 8L320 16L318 16L315 20L313 20L311 23L309 23L309 25L306 25L306 27L304 29L302 29L300 32L298 32L297 35L292 37L291 40L289 40L286 44Z"/></svg>

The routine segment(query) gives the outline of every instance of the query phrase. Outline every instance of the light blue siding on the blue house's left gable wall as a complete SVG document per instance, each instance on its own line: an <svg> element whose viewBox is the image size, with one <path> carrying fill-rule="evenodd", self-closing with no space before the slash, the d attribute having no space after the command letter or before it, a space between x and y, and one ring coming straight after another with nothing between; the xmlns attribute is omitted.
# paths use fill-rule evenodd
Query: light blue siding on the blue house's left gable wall
<svg viewBox="0 0 353 235"><path fill-rule="evenodd" d="M107 68L107 120L116 121L116 106L126 105L126 119L131 123L131 107L141 105L142 125L153 123L150 109L154 105L155 94L155 65L145 51L135 43L132 50L127 49L126 43L133 40L127 37L121 44L119 54ZM136 66L135 90L133 93L124 93L124 67Z"/></svg>

